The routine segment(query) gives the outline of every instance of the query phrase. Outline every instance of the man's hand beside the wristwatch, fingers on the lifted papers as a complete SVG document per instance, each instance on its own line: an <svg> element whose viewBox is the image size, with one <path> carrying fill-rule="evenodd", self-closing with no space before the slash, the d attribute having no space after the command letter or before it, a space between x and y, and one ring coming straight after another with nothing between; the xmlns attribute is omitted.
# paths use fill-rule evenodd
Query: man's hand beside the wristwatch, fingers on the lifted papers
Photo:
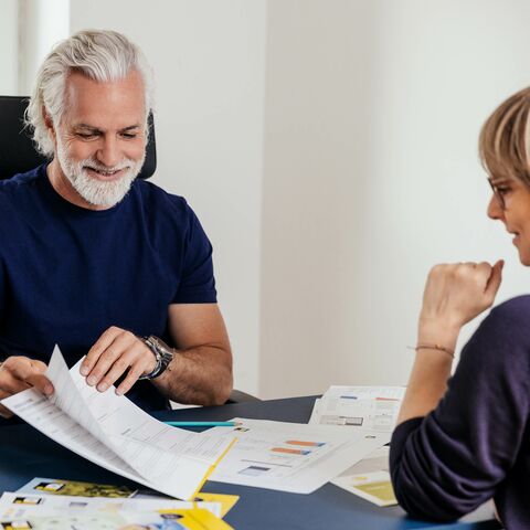
<svg viewBox="0 0 530 530"><path fill-rule="evenodd" d="M127 372L116 389L116 393L121 395L130 390L140 375L152 372L156 364L156 357L141 339L113 326L88 351L81 364L81 374L86 375L87 384L105 392Z"/></svg>

